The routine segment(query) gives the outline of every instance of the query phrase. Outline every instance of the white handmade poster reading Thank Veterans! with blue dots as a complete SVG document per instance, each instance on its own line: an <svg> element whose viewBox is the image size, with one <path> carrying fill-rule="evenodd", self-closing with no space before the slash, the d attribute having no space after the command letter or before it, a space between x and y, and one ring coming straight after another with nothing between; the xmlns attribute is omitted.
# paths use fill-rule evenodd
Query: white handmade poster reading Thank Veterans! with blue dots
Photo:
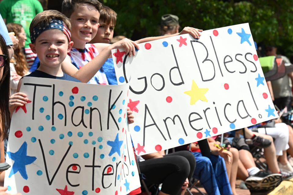
<svg viewBox="0 0 293 195"><path fill-rule="evenodd" d="M7 193L128 194L139 175L127 128L128 85L25 77L13 113Z"/></svg>

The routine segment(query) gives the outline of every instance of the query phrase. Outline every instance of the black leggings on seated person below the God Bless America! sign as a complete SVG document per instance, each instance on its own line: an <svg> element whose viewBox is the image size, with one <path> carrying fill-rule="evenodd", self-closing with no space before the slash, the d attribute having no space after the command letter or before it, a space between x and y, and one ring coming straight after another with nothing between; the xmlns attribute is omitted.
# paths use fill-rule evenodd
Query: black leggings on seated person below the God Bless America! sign
<svg viewBox="0 0 293 195"><path fill-rule="evenodd" d="M195 158L189 151L174 152L163 158L139 162L140 172L146 176L146 184L161 184L161 191L176 195L185 179L191 179Z"/></svg>

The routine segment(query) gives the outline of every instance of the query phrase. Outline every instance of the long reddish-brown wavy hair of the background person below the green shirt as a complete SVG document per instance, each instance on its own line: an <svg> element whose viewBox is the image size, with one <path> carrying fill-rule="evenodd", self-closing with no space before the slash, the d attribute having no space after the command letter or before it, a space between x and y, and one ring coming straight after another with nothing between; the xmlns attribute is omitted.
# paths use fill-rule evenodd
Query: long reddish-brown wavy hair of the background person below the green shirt
<svg viewBox="0 0 293 195"><path fill-rule="evenodd" d="M21 29L23 28L20 24L16 24L16 23L8 23L6 27L8 32L14 32L17 38L19 37ZM25 59L24 53L21 51L20 47L14 50L13 57L16 62L16 64L14 65L16 73L19 76L24 76L25 73L28 72L28 68L27 68L27 61Z"/></svg>

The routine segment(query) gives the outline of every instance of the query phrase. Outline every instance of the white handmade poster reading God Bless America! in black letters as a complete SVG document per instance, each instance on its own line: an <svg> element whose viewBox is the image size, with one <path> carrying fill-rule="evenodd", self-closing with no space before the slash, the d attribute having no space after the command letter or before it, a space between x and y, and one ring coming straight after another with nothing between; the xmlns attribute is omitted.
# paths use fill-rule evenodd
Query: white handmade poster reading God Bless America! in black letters
<svg viewBox="0 0 293 195"><path fill-rule="evenodd" d="M112 50L118 84L130 83L129 126L138 155L276 118L248 23Z"/></svg>

